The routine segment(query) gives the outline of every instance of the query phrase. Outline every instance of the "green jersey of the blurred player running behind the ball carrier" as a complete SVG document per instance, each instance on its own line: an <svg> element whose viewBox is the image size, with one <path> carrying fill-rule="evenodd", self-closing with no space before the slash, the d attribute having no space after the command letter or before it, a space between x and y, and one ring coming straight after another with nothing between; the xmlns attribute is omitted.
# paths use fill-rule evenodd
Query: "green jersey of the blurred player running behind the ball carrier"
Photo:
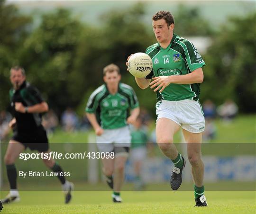
<svg viewBox="0 0 256 214"><path fill-rule="evenodd" d="M106 84L101 85L90 96L85 111L94 113L103 129L116 129L127 125L129 110L139 106L134 90L119 83L116 94L110 94Z"/></svg>

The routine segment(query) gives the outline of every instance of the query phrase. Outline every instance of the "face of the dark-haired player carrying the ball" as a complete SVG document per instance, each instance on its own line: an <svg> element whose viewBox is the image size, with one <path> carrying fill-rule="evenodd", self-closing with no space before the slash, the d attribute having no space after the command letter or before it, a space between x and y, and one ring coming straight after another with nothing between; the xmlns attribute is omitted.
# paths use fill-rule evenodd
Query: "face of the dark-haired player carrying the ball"
<svg viewBox="0 0 256 214"><path fill-rule="evenodd" d="M154 21L153 20L153 30L155 33L155 38L159 43L170 42L173 36L174 24L169 27L164 18Z"/></svg>

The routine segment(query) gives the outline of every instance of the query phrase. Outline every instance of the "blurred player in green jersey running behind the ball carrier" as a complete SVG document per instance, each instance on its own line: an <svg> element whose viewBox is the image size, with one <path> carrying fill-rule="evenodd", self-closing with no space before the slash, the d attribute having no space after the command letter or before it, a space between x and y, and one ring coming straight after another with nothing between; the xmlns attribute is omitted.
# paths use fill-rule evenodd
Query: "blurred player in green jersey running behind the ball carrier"
<svg viewBox="0 0 256 214"><path fill-rule="evenodd" d="M131 143L128 124L135 123L139 104L134 90L120 83L117 65L110 64L103 69L103 80L105 84L91 94L86 112L95 130L99 151L114 152L114 159L102 159L103 173L113 189L113 202L122 202L120 190Z"/></svg>

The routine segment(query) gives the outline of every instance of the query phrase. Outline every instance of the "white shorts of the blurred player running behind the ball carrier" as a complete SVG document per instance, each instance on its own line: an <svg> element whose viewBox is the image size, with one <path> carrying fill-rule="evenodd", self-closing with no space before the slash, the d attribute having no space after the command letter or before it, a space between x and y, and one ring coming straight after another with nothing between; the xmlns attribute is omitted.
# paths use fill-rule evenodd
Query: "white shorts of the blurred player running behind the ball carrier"
<svg viewBox="0 0 256 214"><path fill-rule="evenodd" d="M114 147L130 147L131 134L128 126L118 129L104 129L101 136L96 136L100 152L112 152Z"/></svg>

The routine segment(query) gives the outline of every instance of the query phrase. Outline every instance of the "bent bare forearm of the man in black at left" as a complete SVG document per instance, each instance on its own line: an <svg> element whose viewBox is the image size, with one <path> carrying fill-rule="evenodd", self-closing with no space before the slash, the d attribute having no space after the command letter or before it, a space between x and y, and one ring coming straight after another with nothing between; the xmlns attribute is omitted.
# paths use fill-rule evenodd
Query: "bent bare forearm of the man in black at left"
<svg viewBox="0 0 256 214"><path fill-rule="evenodd" d="M43 113L48 109L49 107L45 101L29 107L24 107L21 102L15 102L15 110L20 113Z"/></svg>

